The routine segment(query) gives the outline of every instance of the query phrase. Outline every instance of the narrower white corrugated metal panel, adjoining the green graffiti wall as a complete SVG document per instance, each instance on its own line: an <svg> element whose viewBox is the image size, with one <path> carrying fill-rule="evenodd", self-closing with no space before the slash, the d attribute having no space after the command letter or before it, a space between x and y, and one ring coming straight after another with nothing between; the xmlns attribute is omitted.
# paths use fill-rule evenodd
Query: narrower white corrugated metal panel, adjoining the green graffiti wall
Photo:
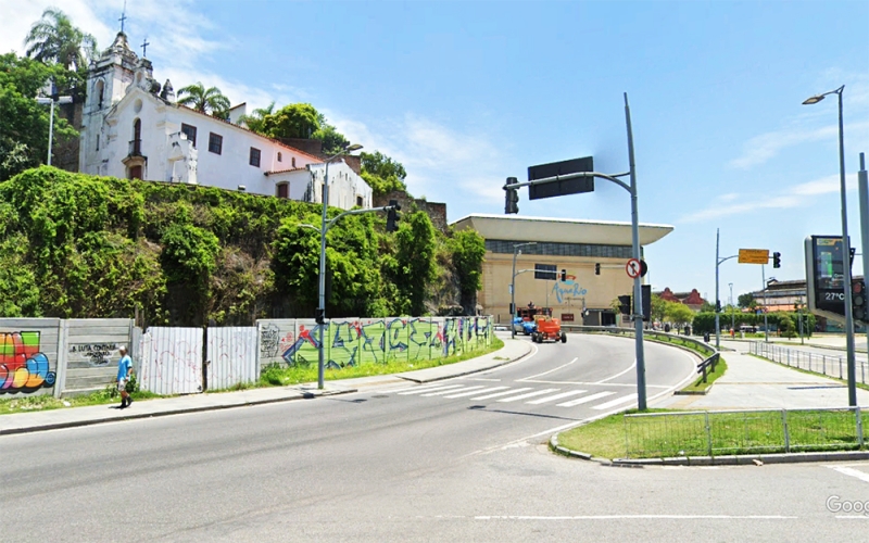
<svg viewBox="0 0 869 543"><path fill-rule="evenodd" d="M260 377L256 327L209 328L207 388L228 389Z"/></svg>

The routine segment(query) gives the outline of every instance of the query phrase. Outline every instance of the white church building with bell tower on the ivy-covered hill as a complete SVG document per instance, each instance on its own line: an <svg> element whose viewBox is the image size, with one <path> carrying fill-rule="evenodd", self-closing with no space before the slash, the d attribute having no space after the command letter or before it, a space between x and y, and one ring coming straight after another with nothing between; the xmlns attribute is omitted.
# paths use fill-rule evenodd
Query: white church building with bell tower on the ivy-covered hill
<svg viewBox="0 0 869 543"><path fill-rule="evenodd" d="M179 105L119 33L88 71L79 171L322 202L323 159L249 130L243 114L236 106L223 121ZM371 206L370 187L342 159L328 174L329 205Z"/></svg>

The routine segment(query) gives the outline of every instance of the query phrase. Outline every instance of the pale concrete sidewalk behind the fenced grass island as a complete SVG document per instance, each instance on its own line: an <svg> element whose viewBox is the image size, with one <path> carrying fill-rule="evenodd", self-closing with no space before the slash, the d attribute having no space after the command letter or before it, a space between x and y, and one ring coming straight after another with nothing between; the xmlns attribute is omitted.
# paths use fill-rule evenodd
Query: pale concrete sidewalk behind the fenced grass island
<svg viewBox="0 0 869 543"><path fill-rule="evenodd" d="M672 409L802 409L847 407L847 386L790 369L744 352L725 352L727 372L706 395L669 396L653 407ZM869 391L857 389L857 403L869 406Z"/></svg>

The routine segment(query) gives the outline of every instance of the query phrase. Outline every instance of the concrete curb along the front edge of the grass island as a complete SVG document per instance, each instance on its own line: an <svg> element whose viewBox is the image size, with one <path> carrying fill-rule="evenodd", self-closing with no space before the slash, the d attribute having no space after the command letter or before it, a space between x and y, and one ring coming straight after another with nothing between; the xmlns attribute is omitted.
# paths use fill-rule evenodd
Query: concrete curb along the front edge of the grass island
<svg viewBox="0 0 869 543"><path fill-rule="evenodd" d="M869 451L833 451L813 453L733 454L725 456L676 456L668 458L599 458L571 451L558 444L558 435L550 438L550 450L570 458L596 462L603 466L642 468L645 466L763 466L764 464L801 464L807 462L854 462L869 459ZM759 463L759 464L758 464Z"/></svg>

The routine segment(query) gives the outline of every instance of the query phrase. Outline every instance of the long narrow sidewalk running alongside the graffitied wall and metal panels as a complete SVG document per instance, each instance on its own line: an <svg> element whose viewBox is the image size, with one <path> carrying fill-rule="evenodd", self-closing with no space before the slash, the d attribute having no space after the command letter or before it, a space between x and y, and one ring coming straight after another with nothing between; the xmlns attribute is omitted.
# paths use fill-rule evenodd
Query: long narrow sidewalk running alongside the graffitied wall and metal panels
<svg viewBox="0 0 869 543"><path fill-rule="evenodd" d="M110 405L91 405L68 409L49 409L34 413L15 413L0 416L0 435L7 433L25 433L56 428L72 428L100 422L130 420L136 418L162 417L181 413L226 409L245 405L261 405L293 400L310 400L319 396L347 394L367 387L378 387L395 382L430 382L451 377L474 374L491 369L517 361L531 352L528 341L501 338L504 348L478 358L473 358L446 366L437 366L418 371L406 371L395 375L361 377L340 381L326 381L324 390L316 383L293 387L268 387L238 392L219 392L188 394L175 397L139 400L127 409L119 409L118 403Z"/></svg>

